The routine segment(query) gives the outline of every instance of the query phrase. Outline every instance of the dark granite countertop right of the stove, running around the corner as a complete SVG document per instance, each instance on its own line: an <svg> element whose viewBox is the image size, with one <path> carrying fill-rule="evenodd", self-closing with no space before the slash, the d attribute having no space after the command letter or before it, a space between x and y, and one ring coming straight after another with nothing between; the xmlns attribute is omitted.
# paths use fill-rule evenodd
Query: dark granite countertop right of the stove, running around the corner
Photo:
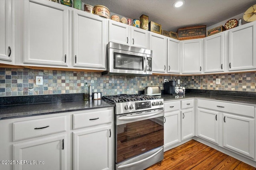
<svg viewBox="0 0 256 170"><path fill-rule="evenodd" d="M162 94L161 98L164 101L176 100L176 99L188 99L188 98L205 98L213 100L224 100L230 102L241 102L247 104L256 104L256 98L240 97L240 96L226 96L226 95L216 95L216 94L199 94L199 93L187 93L184 96L182 95L169 95Z"/></svg>

